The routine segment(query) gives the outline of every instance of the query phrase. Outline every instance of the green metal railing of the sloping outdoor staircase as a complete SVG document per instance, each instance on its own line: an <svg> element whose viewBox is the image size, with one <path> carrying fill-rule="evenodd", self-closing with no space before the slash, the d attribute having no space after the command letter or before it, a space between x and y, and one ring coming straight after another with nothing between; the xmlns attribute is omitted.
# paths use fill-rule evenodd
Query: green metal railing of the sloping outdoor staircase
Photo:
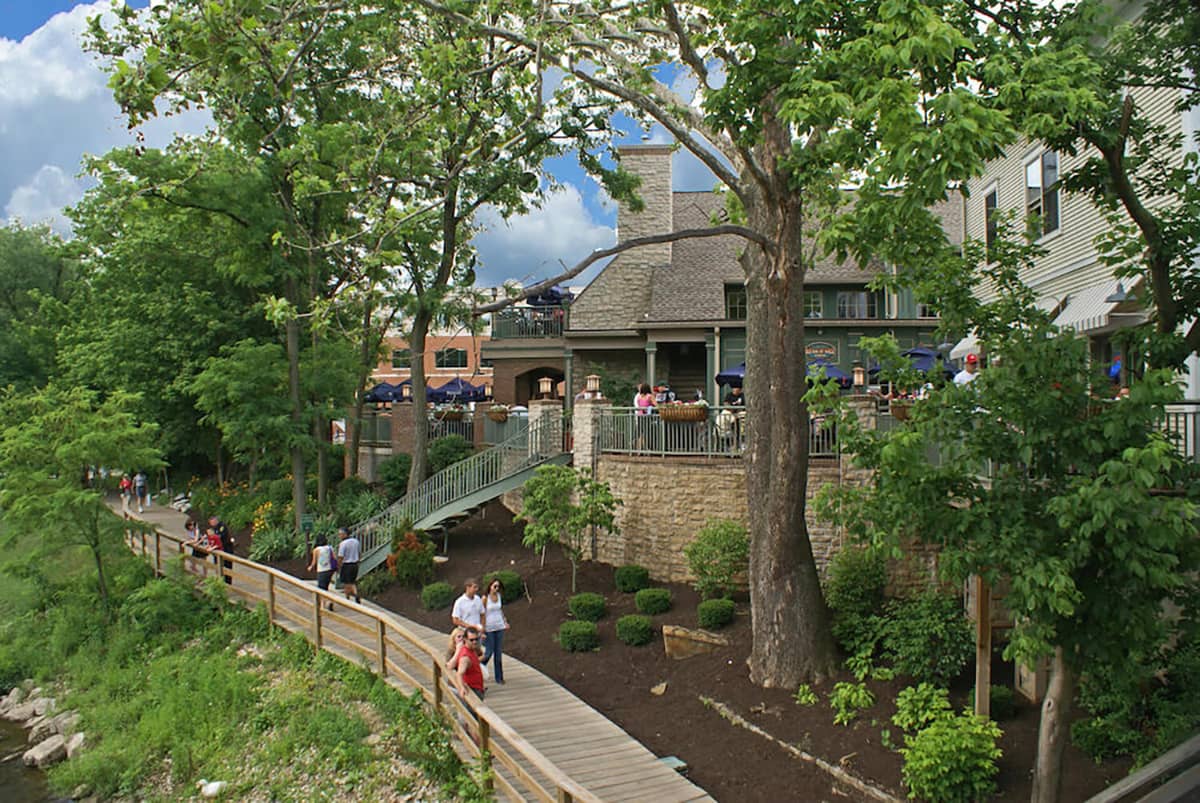
<svg viewBox="0 0 1200 803"><path fill-rule="evenodd" d="M392 531L400 522L420 522L455 499L562 454L560 426L557 418L542 418L491 449L442 469L384 511L350 527L362 549L360 570L370 571L382 562L378 553L390 546Z"/></svg>

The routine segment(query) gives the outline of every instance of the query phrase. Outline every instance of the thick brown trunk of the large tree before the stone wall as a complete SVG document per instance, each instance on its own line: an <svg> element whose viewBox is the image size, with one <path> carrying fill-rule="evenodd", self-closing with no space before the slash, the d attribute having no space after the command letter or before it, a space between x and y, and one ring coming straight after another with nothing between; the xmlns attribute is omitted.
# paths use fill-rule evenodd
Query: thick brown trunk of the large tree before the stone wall
<svg viewBox="0 0 1200 803"><path fill-rule="evenodd" d="M776 160L786 132L768 125L764 163L770 197L748 206L751 226L776 244L775 254L748 248L746 496L750 521L750 679L794 688L836 669L829 613L821 593L804 511L808 501L809 412L804 354L802 199Z"/></svg>

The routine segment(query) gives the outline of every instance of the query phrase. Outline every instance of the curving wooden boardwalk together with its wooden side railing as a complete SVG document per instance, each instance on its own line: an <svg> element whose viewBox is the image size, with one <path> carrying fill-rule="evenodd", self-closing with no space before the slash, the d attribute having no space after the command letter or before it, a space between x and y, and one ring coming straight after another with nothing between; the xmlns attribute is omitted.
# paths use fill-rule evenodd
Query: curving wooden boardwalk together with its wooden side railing
<svg viewBox="0 0 1200 803"><path fill-rule="evenodd" d="M181 559L184 516L152 508L131 528L130 546L157 571ZM140 529L140 532L139 532ZM182 557L185 569L206 576L212 559ZM323 649L382 673L446 714L460 753L474 759L485 745L492 756L497 797L527 801L655 801L713 798L661 763L637 739L534 667L505 655L503 685L491 685L486 703L463 703L444 678L446 633L364 603L325 594L310 581L230 557L230 598L264 604L278 627L302 633ZM324 603L332 601L329 611ZM446 629L449 630L449 628Z"/></svg>

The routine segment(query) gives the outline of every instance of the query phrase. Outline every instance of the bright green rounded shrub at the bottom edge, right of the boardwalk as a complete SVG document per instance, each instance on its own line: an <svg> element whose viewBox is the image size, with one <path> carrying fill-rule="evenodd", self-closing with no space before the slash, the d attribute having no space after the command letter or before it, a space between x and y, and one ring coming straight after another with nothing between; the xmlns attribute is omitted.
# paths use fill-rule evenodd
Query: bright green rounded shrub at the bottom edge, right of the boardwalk
<svg viewBox="0 0 1200 803"><path fill-rule="evenodd" d="M986 799L996 787L1000 736L996 723L966 713L906 737L901 775L910 796L944 803Z"/></svg>

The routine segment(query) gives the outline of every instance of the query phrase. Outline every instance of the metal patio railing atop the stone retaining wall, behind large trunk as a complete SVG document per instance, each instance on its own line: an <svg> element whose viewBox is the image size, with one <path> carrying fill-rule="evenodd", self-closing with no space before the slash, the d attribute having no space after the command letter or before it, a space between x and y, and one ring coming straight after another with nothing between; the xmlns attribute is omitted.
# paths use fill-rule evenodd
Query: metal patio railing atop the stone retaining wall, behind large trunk
<svg viewBox="0 0 1200 803"><path fill-rule="evenodd" d="M665 421L661 415L638 415L632 407L613 407L600 419L602 453L647 456L740 457L745 451L745 408L710 407L701 421ZM838 455L838 433L822 419L812 419L809 455Z"/></svg>

